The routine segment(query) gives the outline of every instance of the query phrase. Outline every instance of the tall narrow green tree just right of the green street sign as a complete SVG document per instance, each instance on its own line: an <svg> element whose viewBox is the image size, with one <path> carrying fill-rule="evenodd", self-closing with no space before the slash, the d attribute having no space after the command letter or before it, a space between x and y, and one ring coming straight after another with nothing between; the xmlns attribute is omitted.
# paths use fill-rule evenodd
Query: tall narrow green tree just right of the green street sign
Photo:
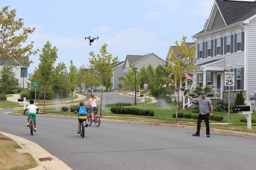
<svg viewBox="0 0 256 170"><path fill-rule="evenodd" d="M45 96L46 96L46 89L49 88L49 86L53 82L54 77L54 64L57 56L58 49L56 47L51 46L51 43L49 41L46 42L42 49L42 54L39 54L39 65L38 65L38 72L39 72L39 84L42 84L44 88L44 106L43 111L45 112Z"/></svg>

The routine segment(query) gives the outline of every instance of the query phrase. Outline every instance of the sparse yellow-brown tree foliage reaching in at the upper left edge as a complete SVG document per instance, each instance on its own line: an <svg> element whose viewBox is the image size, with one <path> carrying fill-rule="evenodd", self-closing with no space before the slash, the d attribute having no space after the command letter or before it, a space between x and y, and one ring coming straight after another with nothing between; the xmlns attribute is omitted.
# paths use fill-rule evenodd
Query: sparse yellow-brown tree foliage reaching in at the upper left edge
<svg viewBox="0 0 256 170"><path fill-rule="evenodd" d="M32 51L33 41L31 44L24 46L28 34L32 34L35 28L23 27L23 19L15 20L16 9L8 11L9 6L3 7L0 11L0 66L5 65L7 69L19 65L29 65L30 55L35 55ZM22 47L23 46L23 47ZM2 71L0 71L0 74Z"/></svg>

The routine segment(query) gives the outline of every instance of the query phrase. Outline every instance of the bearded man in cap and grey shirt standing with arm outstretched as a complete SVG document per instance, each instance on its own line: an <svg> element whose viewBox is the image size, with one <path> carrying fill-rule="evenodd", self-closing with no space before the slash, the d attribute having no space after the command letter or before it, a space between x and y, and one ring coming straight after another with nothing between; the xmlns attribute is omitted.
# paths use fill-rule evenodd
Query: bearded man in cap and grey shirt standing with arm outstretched
<svg viewBox="0 0 256 170"><path fill-rule="evenodd" d="M201 93L201 98L195 99L189 96L185 96L190 100L196 101L199 104L200 113L197 117L197 132L192 134L193 136L200 136L200 128L201 128L201 121L205 121L206 126L206 136L210 137L210 126L209 126L209 106L211 108L211 117L213 116L213 105L211 104L211 99L206 97L205 92Z"/></svg>

